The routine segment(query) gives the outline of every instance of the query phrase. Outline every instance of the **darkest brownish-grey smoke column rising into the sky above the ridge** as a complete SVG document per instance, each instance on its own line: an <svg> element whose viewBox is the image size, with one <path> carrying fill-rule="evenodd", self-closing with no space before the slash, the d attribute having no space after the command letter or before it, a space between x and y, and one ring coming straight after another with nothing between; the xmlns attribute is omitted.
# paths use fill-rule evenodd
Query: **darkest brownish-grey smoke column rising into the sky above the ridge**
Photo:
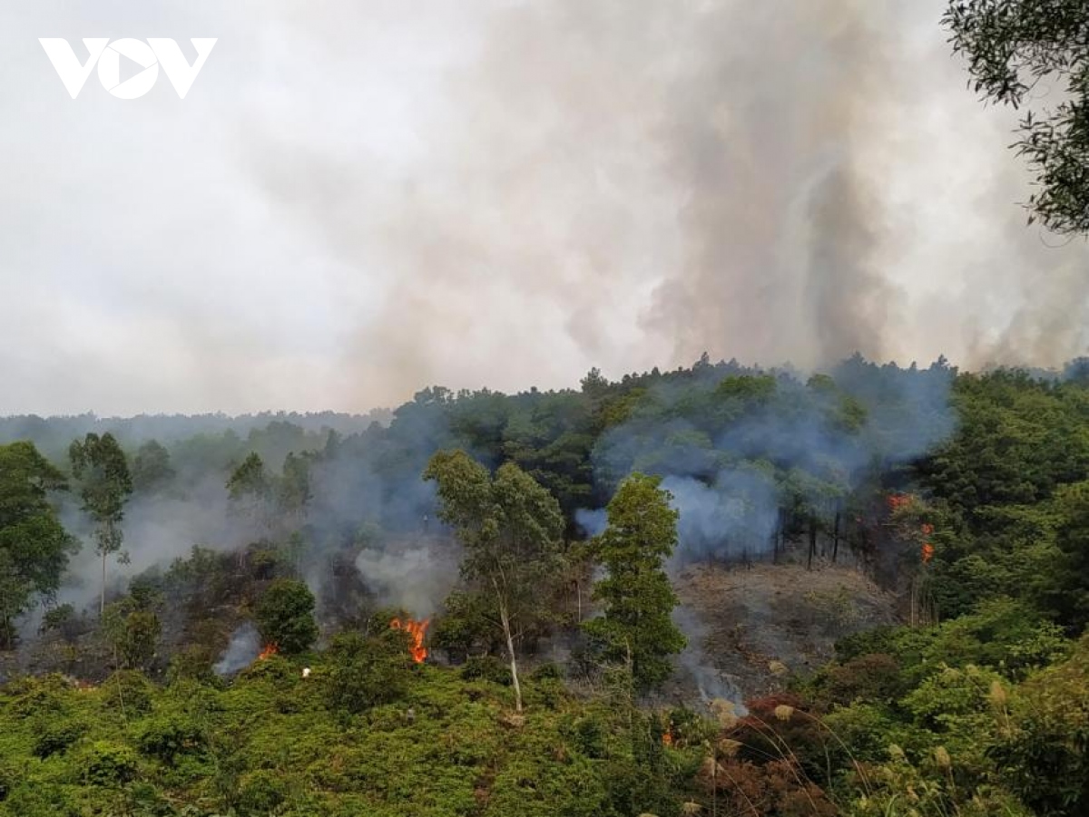
<svg viewBox="0 0 1089 817"><path fill-rule="evenodd" d="M867 151L897 21L886 3L689 7L693 48L666 102L682 260L650 325L676 355L802 366L893 351L880 174ZM742 22L744 21L744 22ZM918 21L917 21L918 22Z"/></svg>

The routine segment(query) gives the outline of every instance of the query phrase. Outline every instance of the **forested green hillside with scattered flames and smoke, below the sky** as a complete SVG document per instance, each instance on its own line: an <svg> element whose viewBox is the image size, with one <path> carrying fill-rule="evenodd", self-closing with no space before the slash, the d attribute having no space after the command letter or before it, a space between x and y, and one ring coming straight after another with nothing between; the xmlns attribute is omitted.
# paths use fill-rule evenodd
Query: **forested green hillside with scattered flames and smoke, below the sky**
<svg viewBox="0 0 1089 817"><path fill-rule="evenodd" d="M700 361L76 442L0 446L5 817L1089 803L1079 380Z"/></svg>

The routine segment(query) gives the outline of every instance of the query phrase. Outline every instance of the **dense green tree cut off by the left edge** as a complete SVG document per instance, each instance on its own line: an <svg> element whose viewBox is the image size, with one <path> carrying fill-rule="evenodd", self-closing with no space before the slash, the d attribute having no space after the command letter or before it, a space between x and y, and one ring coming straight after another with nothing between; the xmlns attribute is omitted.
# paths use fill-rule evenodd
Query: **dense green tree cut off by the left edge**
<svg viewBox="0 0 1089 817"><path fill-rule="evenodd" d="M0 644L36 594L57 590L76 548L49 502L65 487L33 443L0 445Z"/></svg>

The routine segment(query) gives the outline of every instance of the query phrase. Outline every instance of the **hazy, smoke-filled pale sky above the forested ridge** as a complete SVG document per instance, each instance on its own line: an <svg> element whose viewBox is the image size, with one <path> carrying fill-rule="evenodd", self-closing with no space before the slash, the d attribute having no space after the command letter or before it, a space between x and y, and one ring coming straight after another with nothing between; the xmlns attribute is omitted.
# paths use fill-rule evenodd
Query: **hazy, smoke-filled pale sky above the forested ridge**
<svg viewBox="0 0 1089 817"><path fill-rule="evenodd" d="M1086 244L1024 226L943 5L7 3L0 413L1085 354ZM72 100L39 37L219 42Z"/></svg>

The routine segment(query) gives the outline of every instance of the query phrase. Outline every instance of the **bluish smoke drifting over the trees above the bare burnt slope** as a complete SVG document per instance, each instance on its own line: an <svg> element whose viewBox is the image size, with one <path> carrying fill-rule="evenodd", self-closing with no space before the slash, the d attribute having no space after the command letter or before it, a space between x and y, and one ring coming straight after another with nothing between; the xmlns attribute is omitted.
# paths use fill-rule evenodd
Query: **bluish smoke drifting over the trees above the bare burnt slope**
<svg viewBox="0 0 1089 817"><path fill-rule="evenodd" d="M662 478L661 487L680 511L674 570L709 558L769 554L780 511L792 496L831 515L874 466L889 471L908 463L956 428L952 369L938 363L921 370L879 368L857 358L831 369L842 393L779 372L768 403L720 423L717 431L663 419L683 417L686 406L708 400L727 373L738 373L731 369L707 369L702 381L680 392L659 386L644 399L650 413L635 410L602 435L592 453L604 484L617 484L632 471ZM837 419L843 394L866 412L857 430L848 431ZM729 398L717 399L729 405ZM575 519L591 535L607 523L600 509L579 510Z"/></svg>

